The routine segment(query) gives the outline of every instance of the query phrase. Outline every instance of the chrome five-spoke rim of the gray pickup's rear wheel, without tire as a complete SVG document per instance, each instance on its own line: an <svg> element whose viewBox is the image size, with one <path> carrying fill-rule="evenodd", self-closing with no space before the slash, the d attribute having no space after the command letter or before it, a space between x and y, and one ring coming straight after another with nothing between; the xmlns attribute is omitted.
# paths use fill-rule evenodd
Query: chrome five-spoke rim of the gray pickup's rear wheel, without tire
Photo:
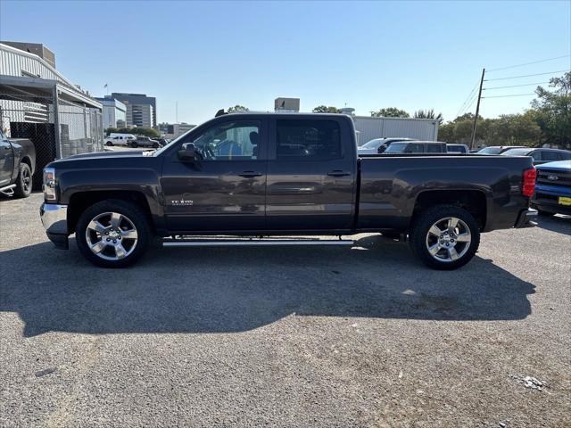
<svg viewBox="0 0 571 428"><path fill-rule="evenodd" d="M426 248L438 261L451 262L468 252L472 235L468 225L459 218L447 217L436 221L426 234Z"/></svg>

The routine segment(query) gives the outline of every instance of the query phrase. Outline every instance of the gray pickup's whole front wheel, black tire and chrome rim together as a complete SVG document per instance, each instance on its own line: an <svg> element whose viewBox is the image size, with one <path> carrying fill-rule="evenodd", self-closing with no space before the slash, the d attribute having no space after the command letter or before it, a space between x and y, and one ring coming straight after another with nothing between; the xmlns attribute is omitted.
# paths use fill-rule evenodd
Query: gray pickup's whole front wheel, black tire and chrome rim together
<svg viewBox="0 0 571 428"><path fill-rule="evenodd" d="M75 236L79 251L93 264L125 268L145 254L151 228L137 205L107 200L81 214Z"/></svg>

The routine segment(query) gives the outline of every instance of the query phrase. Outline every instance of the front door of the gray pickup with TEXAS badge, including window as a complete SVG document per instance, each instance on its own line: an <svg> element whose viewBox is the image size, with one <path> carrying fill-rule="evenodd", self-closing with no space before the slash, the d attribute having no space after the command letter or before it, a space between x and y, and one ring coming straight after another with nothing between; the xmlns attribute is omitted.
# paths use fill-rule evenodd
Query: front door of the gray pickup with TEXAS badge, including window
<svg viewBox="0 0 571 428"><path fill-rule="evenodd" d="M260 120L219 122L194 137L196 161L163 164L161 189L170 231L266 227L266 136Z"/></svg>

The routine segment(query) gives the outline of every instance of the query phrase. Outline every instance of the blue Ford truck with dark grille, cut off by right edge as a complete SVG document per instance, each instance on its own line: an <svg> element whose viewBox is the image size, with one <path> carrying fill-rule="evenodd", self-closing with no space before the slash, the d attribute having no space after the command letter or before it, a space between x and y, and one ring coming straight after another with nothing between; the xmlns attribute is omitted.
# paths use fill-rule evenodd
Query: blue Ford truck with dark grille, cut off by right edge
<svg viewBox="0 0 571 428"><path fill-rule="evenodd" d="M542 215L571 215L571 161L548 162L537 167L531 205Z"/></svg>

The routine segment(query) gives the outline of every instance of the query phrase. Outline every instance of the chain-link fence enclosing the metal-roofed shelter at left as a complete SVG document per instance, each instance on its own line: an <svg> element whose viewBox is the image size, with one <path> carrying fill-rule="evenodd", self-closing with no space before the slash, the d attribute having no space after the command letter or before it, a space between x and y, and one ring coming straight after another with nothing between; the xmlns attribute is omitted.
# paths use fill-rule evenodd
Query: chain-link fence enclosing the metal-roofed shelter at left
<svg viewBox="0 0 571 428"><path fill-rule="evenodd" d="M103 116L98 109L58 99L57 120L52 96L0 91L0 126L11 138L28 138L36 147L34 187L42 170L58 157L103 152ZM56 125L59 124L59 133ZM59 138L58 138L59 136Z"/></svg>

